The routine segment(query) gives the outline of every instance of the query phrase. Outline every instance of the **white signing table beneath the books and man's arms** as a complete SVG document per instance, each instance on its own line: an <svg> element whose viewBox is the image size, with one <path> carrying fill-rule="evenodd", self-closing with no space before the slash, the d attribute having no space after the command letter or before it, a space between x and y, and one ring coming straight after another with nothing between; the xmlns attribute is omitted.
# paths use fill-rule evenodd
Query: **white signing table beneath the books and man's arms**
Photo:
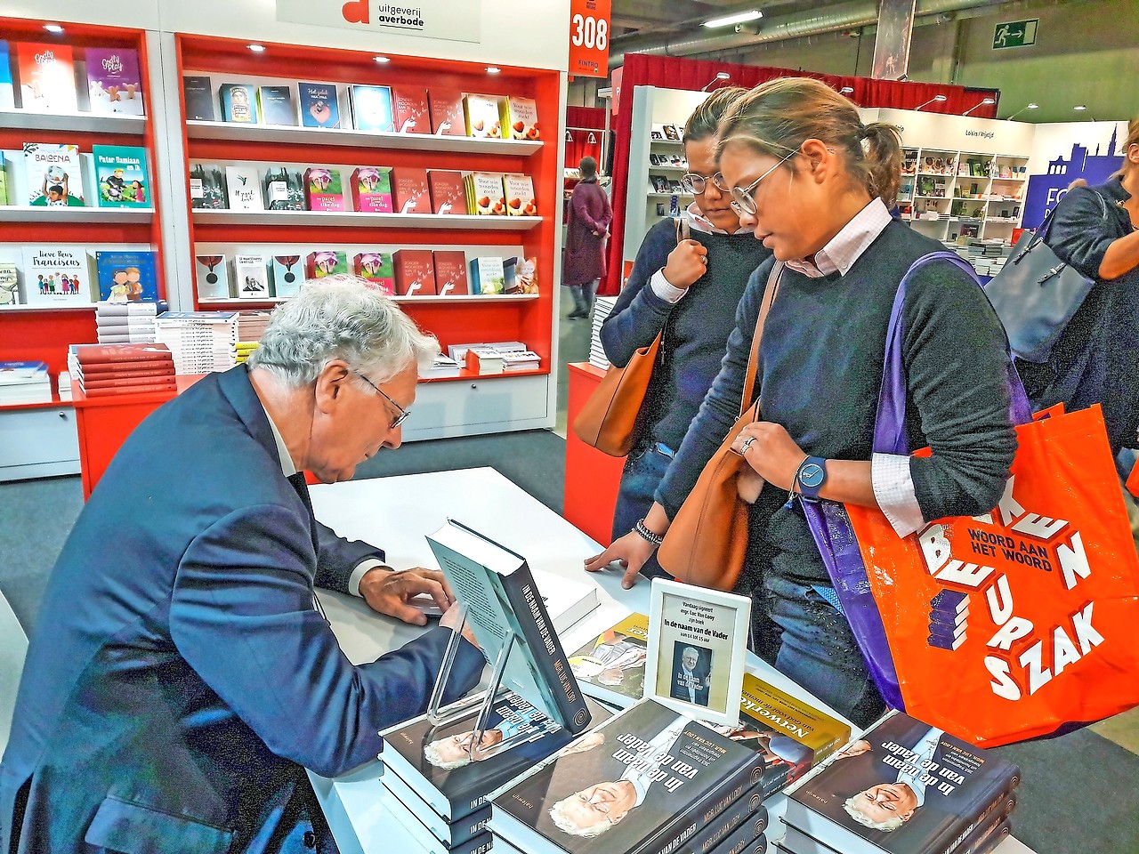
<svg viewBox="0 0 1139 854"><path fill-rule="evenodd" d="M630 610L648 613L647 582L641 580L632 590L623 590L618 572L587 575L582 563L601 547L492 468L350 481L312 486L310 492L317 518L342 536L383 548L387 563L396 569L437 569L425 536L453 518L523 555L531 568L595 578L601 603L560 635L567 651L596 638ZM355 597L325 590L319 597L341 649L353 664L375 660L423 631L376 614ZM748 670L792 696L821 705L755 656L748 656ZM421 847L382 803L379 773L376 761L335 780L309 775L342 854L419 854ZM767 806L771 813L769 839L778 839L782 836L782 796L769 798ZM1009 837L995 854L1031 852Z"/></svg>

